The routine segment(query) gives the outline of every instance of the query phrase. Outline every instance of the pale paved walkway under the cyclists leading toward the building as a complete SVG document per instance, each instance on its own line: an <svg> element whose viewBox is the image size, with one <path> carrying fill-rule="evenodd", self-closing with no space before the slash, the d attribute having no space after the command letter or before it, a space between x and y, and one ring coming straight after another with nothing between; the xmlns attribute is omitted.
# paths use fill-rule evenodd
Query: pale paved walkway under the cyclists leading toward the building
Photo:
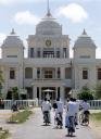
<svg viewBox="0 0 101 139"><path fill-rule="evenodd" d="M8 125L8 128L12 131L12 139L70 139L67 137L66 129L55 129L53 124L53 112L51 126L43 126L42 115L40 109L35 109L35 115L33 115L23 125ZM74 139L98 139L94 137L90 127L78 127L76 129ZM71 139L73 139L71 138Z"/></svg>

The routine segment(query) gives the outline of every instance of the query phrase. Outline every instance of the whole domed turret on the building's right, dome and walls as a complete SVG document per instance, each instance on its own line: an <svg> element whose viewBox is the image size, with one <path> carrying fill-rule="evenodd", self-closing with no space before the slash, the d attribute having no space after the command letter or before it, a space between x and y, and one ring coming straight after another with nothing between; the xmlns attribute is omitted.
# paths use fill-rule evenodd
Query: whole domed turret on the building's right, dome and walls
<svg viewBox="0 0 101 139"><path fill-rule="evenodd" d="M84 29L83 34L78 37L74 45L74 59L75 60L90 60L96 59L96 45L91 37L89 37Z"/></svg>

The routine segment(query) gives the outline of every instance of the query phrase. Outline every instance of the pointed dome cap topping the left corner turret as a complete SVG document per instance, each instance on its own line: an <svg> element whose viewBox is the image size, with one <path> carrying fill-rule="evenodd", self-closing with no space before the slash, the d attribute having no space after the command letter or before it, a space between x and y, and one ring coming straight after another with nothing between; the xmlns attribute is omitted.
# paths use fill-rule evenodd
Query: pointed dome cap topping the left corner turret
<svg viewBox="0 0 101 139"><path fill-rule="evenodd" d="M15 34L14 29L12 29L11 34L3 41L2 47L22 47L23 41Z"/></svg>

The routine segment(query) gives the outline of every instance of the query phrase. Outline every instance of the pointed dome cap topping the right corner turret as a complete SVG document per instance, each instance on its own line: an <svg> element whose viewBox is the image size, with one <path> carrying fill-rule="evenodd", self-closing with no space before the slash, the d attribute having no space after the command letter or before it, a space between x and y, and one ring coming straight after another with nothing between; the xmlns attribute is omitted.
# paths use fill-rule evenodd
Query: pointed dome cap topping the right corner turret
<svg viewBox="0 0 101 139"><path fill-rule="evenodd" d="M75 41L74 48L81 48L81 47L93 47L96 48L96 45L93 42L93 40L91 39L91 37L89 37L86 33L86 30L84 29L83 34L78 37L78 39Z"/></svg>

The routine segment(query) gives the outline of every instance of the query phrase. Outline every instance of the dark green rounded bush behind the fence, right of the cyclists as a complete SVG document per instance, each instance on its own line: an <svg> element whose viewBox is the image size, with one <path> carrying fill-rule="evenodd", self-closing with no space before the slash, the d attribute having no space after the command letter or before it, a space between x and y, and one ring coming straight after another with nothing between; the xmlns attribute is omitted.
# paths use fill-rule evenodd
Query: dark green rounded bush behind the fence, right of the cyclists
<svg viewBox="0 0 101 139"><path fill-rule="evenodd" d="M79 100L93 100L91 90L88 87L83 87L80 92L77 94Z"/></svg>

